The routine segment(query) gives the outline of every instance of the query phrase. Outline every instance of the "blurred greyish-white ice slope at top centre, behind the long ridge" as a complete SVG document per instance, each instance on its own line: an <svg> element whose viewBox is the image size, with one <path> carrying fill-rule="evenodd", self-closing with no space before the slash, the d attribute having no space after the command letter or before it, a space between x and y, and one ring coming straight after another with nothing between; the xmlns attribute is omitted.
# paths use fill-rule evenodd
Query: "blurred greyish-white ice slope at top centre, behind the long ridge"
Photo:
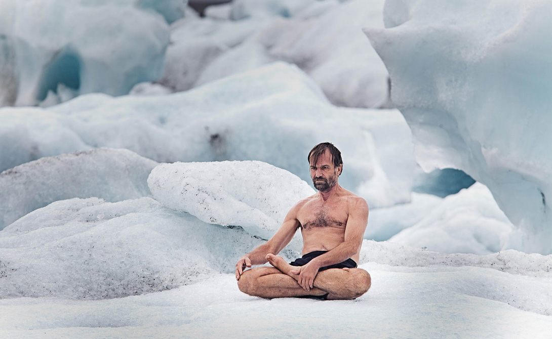
<svg viewBox="0 0 552 339"><path fill-rule="evenodd" d="M301 11L293 14L296 11L289 9L291 3ZM388 73L361 29L363 26L383 28L383 4L380 0L352 0L342 4L295 0L234 2L232 13L241 14L233 18L250 18L238 23L256 23L259 17L272 19L257 25L255 34L208 64L197 84L254 69L276 59L297 64L336 105L384 106L388 103ZM243 14L243 8L253 14ZM210 18L200 23L201 26L222 26ZM196 25L200 23L195 21ZM173 31L172 36L175 35L177 32Z"/></svg>

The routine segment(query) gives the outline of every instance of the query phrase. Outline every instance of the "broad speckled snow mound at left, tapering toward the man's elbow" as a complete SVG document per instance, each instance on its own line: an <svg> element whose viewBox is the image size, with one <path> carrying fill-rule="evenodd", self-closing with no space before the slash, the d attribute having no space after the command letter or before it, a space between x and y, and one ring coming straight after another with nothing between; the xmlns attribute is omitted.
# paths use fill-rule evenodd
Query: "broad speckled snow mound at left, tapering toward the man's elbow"
<svg viewBox="0 0 552 339"><path fill-rule="evenodd" d="M57 201L0 232L0 299L109 299L230 273L260 240L151 198Z"/></svg>

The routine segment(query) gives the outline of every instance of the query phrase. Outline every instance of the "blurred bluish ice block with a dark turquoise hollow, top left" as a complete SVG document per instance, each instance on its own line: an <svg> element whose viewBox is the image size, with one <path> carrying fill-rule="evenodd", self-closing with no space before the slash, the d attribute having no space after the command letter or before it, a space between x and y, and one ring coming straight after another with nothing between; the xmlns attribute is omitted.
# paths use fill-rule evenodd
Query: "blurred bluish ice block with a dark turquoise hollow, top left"
<svg viewBox="0 0 552 339"><path fill-rule="evenodd" d="M173 21L182 16L178 10L184 4L2 2L0 106L35 105L50 91L52 103L60 83L79 94L121 95L136 83L159 78L169 39L169 27L159 13Z"/></svg>

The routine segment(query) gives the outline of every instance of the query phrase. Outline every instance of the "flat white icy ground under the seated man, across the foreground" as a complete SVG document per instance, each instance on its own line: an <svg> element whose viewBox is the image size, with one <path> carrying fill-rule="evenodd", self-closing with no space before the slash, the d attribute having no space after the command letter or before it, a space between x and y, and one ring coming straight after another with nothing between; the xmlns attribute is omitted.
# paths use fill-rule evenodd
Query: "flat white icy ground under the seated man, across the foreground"
<svg viewBox="0 0 552 339"><path fill-rule="evenodd" d="M374 246L379 259L360 265L370 272L372 287L353 301L250 297L237 289L233 275L217 274L181 288L119 299L0 300L0 335L281 338L293 336L293 329L304 326L307 317L309 326L301 330L307 337L341 337L347 328L351 338L370 333L401 338L548 339L552 320L546 315L552 300L547 291L552 286L550 266L546 272L543 265L546 257L507 251L498 256L456 255L464 263L449 263L450 255L385 242L364 244L366 249ZM405 255L411 259L431 255L434 261L420 262L425 267L385 264ZM473 258L486 263L477 264ZM535 265L527 274L501 272L492 265L524 260ZM289 316L290 310L301 316Z"/></svg>

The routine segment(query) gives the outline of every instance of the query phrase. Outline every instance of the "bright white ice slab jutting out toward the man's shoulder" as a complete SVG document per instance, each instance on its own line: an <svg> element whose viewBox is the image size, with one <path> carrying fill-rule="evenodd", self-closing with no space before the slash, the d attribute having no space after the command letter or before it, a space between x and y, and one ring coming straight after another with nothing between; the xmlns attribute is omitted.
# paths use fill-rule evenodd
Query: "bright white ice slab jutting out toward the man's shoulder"
<svg viewBox="0 0 552 339"><path fill-rule="evenodd" d="M299 177L258 161L161 164L147 183L164 206L263 239L274 235L295 203L315 193Z"/></svg>

